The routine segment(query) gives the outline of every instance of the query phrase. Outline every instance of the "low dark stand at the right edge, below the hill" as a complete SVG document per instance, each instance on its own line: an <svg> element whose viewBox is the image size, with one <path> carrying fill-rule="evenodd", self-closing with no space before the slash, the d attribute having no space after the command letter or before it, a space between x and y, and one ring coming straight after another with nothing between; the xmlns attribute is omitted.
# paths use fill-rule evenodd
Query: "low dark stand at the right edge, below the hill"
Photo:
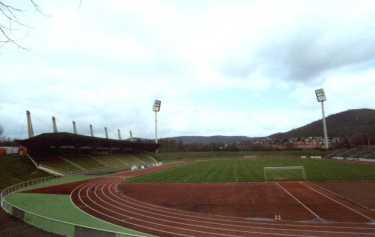
<svg viewBox="0 0 375 237"><path fill-rule="evenodd" d="M328 154L326 158L375 161L375 146L359 146L350 149L338 149Z"/></svg>

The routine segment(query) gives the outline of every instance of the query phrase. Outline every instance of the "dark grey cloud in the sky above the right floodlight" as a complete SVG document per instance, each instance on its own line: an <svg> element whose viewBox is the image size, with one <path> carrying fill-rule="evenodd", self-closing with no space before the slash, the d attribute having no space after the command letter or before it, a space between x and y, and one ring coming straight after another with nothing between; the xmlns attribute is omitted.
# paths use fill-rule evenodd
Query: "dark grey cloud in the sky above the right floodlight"
<svg viewBox="0 0 375 237"><path fill-rule="evenodd" d="M285 29L285 34L264 42L255 54L225 62L222 72L247 78L261 71L268 77L311 81L330 70L360 67L375 60L374 22L366 22L359 29L356 25L341 29L324 25Z"/></svg>

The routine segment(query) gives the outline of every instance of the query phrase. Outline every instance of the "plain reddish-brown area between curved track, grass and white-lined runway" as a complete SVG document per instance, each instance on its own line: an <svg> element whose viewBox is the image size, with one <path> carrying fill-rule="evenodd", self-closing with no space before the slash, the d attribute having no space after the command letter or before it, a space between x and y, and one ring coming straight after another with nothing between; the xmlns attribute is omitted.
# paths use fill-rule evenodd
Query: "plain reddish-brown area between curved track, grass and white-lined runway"
<svg viewBox="0 0 375 237"><path fill-rule="evenodd" d="M288 220L313 219L274 183L125 183L120 190L143 202L205 214L264 219L280 214Z"/></svg>

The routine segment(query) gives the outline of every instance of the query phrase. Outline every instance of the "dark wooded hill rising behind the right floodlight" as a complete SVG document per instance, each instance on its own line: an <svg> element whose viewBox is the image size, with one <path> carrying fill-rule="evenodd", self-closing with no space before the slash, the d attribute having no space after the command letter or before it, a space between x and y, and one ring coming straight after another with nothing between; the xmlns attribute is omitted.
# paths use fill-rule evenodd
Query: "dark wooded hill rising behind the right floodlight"
<svg viewBox="0 0 375 237"><path fill-rule="evenodd" d="M353 135L375 136L375 110L353 109L327 117L328 135L330 137L349 137ZM271 138L322 136L322 121L317 120L305 126L285 133L276 133Z"/></svg>

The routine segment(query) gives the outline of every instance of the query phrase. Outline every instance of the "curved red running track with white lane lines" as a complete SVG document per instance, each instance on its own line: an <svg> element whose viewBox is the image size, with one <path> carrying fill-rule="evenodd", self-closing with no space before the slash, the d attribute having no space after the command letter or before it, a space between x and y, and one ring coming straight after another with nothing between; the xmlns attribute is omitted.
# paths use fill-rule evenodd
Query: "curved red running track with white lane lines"
<svg viewBox="0 0 375 237"><path fill-rule="evenodd" d="M123 180L112 176L83 183L72 191L71 199L92 216L163 237L375 237L375 225L368 223L265 222L157 206L121 193Z"/></svg>

